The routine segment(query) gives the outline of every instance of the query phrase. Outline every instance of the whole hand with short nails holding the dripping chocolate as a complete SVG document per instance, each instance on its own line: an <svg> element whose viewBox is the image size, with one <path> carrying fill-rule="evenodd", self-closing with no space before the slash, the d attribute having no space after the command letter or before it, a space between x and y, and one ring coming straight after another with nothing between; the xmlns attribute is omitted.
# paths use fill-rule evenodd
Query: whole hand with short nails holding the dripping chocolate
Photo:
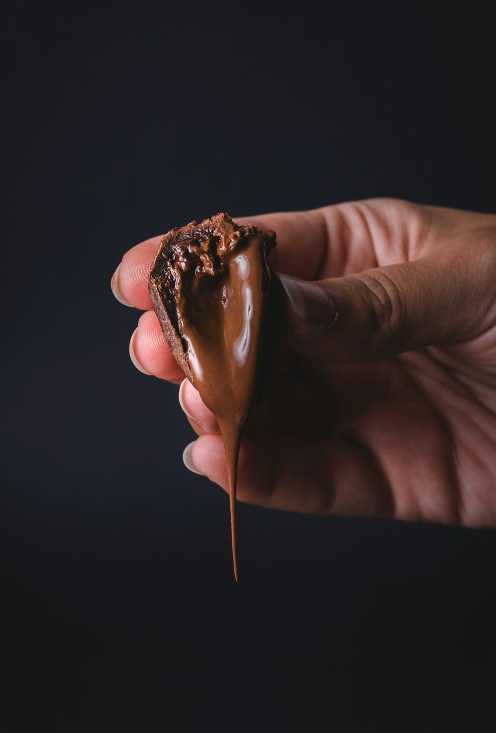
<svg viewBox="0 0 496 733"><path fill-rule="evenodd" d="M297 310L281 295L283 348L245 430L237 498L496 526L496 216L371 199L234 219L277 232L278 273L318 282L286 282ZM159 242L130 249L114 279L144 311L133 352L182 383L189 460L227 490L218 425L152 311Z"/></svg>

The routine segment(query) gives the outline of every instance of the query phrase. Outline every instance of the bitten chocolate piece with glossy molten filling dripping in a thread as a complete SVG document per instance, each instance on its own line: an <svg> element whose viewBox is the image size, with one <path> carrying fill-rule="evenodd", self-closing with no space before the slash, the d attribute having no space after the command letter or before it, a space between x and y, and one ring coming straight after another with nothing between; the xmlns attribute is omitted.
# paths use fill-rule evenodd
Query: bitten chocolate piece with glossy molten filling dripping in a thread
<svg viewBox="0 0 496 733"><path fill-rule="evenodd" d="M217 214L166 234L148 276L169 348L221 430L236 580L237 459L259 386L274 246L272 230Z"/></svg>

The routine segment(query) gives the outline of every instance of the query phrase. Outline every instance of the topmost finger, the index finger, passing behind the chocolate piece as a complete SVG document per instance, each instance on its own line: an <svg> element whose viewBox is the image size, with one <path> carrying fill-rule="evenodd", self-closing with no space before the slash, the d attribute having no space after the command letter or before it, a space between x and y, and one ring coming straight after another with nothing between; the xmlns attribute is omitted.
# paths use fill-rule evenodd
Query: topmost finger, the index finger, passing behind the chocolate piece
<svg viewBox="0 0 496 733"><path fill-rule="evenodd" d="M301 279L314 279L327 246L327 230L318 209L235 217L234 221L255 224L259 229L273 229L278 241L270 254L274 269ZM127 251L114 273L114 294L119 293L122 300L134 308L152 308L147 277L162 238L152 237Z"/></svg>

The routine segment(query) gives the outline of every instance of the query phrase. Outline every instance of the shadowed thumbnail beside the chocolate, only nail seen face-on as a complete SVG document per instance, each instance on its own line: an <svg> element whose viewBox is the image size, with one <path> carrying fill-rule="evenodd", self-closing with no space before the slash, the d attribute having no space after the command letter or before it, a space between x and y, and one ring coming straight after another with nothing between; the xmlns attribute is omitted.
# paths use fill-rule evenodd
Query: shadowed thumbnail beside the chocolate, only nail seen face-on
<svg viewBox="0 0 496 733"><path fill-rule="evenodd" d="M311 325L329 328L338 314L329 293L319 284L277 273L297 314Z"/></svg>

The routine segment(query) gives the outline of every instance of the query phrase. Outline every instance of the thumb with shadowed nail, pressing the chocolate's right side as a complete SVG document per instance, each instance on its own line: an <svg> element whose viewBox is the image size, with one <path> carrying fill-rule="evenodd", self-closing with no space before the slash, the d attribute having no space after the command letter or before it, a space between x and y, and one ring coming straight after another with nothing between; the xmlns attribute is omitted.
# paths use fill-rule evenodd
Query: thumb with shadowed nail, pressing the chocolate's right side
<svg viewBox="0 0 496 733"><path fill-rule="evenodd" d="M346 364L473 338L491 310L490 302L484 309L484 294L492 301L495 264L454 248L328 280L279 275L289 346Z"/></svg>

